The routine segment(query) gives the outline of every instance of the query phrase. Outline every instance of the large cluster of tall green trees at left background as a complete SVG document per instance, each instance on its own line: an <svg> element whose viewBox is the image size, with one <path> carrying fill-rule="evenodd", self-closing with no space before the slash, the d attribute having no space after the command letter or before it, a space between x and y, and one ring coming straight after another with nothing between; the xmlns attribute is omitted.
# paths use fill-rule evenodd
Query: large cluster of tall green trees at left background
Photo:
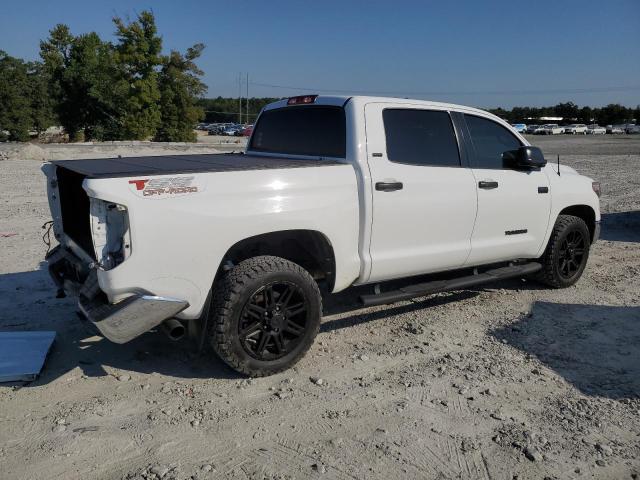
<svg viewBox="0 0 640 480"><path fill-rule="evenodd" d="M56 25L38 62L0 51L0 137L25 141L62 125L70 141L195 141L206 92L195 61L204 45L163 54L149 11L113 23L115 42Z"/></svg>

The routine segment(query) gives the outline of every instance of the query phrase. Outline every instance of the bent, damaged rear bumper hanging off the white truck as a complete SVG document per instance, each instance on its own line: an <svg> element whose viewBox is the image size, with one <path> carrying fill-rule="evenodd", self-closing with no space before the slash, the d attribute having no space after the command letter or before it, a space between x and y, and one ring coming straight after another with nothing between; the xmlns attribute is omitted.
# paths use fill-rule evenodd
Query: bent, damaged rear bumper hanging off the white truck
<svg viewBox="0 0 640 480"><path fill-rule="evenodd" d="M184 300L147 293L110 304L100 290L95 269L71 251L57 247L47 256L47 262L58 288L77 295L84 316L115 343L133 340L189 306Z"/></svg>

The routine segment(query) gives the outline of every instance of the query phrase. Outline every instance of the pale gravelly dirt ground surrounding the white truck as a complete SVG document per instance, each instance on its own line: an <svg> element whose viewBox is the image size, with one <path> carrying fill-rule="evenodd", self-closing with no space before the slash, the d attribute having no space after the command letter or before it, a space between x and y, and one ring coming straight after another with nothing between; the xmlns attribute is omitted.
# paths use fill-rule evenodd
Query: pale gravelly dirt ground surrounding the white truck
<svg viewBox="0 0 640 480"><path fill-rule="evenodd" d="M40 162L0 161L0 330L58 334L37 381L0 386L0 477L637 479L640 136L533 141L603 185L576 286L341 295L307 357L256 380L159 332L96 336L41 264Z"/></svg>

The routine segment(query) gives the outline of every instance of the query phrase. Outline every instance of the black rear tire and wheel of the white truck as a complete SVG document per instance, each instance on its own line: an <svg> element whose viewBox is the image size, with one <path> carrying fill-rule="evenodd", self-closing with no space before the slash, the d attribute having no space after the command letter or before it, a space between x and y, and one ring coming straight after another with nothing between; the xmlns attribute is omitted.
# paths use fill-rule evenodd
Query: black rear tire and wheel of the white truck
<svg viewBox="0 0 640 480"><path fill-rule="evenodd" d="M218 356L244 375L263 377L307 353L320 329L322 298L301 266L259 256L217 282L210 315L209 341Z"/></svg>

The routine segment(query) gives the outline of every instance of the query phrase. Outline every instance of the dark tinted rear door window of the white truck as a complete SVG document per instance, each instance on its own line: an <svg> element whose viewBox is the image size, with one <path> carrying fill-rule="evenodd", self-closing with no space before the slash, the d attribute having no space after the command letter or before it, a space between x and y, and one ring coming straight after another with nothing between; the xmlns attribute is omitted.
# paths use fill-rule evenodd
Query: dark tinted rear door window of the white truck
<svg viewBox="0 0 640 480"><path fill-rule="evenodd" d="M448 112L385 109L387 157L392 162L459 167L458 143Z"/></svg>

